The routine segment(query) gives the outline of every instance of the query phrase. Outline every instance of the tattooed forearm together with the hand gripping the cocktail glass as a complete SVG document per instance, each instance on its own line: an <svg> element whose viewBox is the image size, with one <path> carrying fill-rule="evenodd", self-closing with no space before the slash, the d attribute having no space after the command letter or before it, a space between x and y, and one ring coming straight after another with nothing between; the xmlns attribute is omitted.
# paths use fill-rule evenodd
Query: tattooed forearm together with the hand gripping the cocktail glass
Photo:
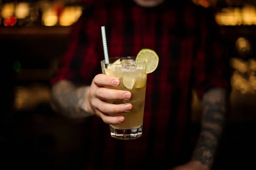
<svg viewBox="0 0 256 170"><path fill-rule="evenodd" d="M109 104L106 101L130 100L131 92L105 87L117 87L118 78L99 74L90 86L76 87L72 82L62 80L52 87L53 108L69 118L86 118L96 114L107 124L120 124L125 121L122 115L111 114L129 112L132 105Z"/></svg>

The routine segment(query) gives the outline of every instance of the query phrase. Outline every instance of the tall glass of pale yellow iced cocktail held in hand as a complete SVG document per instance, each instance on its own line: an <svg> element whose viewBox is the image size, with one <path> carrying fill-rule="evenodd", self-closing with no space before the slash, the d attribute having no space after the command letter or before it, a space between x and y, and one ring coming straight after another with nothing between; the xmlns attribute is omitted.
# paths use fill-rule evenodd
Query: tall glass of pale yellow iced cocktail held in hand
<svg viewBox="0 0 256 170"><path fill-rule="evenodd" d="M133 109L130 112L122 113L125 122L117 125L110 125L111 136L117 139L135 139L142 135L143 113L145 104L145 92L147 74L145 73L146 62L135 63L135 57L109 58L101 62L102 73L119 78L118 87L106 87L131 92L131 99L128 101L106 101L111 104L130 103ZM120 114L118 114L120 115ZM112 114L111 116L117 116Z"/></svg>

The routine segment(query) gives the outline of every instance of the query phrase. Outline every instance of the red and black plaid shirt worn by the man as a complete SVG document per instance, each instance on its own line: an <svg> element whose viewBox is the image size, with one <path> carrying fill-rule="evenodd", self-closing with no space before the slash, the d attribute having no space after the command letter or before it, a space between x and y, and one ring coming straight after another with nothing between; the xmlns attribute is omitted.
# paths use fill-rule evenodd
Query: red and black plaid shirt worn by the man
<svg viewBox="0 0 256 170"><path fill-rule="evenodd" d="M144 48L159 55L157 69L148 74L142 137L116 140L109 125L96 116L88 118L83 151L88 157L81 158L88 169L161 170L178 164L188 152L192 88L200 98L209 88L228 86L213 13L190 1L172 2L154 8L132 0L98 4L74 26L52 84L67 79L90 85L101 73L101 26L106 27L109 57L136 56Z"/></svg>

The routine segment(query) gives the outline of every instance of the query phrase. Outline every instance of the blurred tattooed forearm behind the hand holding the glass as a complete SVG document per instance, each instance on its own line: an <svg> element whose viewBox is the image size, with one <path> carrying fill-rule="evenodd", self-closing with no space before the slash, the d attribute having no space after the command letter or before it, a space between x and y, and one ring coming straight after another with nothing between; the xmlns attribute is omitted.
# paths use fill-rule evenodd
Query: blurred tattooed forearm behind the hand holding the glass
<svg viewBox="0 0 256 170"><path fill-rule="evenodd" d="M67 117L88 117L92 114L82 108L87 89L87 86L77 88L70 81L60 81L52 87L52 105Z"/></svg>

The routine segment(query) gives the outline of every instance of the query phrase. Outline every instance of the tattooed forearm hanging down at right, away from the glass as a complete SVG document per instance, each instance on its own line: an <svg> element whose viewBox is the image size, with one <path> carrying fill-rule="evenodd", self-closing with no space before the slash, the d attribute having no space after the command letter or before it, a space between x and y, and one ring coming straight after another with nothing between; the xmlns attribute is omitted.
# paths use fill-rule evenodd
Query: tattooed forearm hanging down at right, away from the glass
<svg viewBox="0 0 256 170"><path fill-rule="evenodd" d="M210 89L203 97L203 118L201 133L192 156L209 168L215 156L221 137L226 113L226 92L224 89Z"/></svg>

